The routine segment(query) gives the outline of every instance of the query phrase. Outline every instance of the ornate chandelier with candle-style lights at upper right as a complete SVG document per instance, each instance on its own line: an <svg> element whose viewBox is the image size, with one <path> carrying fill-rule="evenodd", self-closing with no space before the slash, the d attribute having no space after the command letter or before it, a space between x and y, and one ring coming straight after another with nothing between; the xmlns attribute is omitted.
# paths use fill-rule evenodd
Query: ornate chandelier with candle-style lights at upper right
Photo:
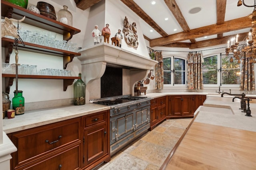
<svg viewBox="0 0 256 170"><path fill-rule="evenodd" d="M254 7L248 18L252 20L252 32L250 31L246 37L244 37L242 43L238 43L238 35L228 40L226 48L226 56L230 58L230 63L237 60L240 64L240 59L248 59L248 63L256 63L256 0L254 0L253 6L244 4L244 0L238 0L237 6L244 4L246 7Z"/></svg>

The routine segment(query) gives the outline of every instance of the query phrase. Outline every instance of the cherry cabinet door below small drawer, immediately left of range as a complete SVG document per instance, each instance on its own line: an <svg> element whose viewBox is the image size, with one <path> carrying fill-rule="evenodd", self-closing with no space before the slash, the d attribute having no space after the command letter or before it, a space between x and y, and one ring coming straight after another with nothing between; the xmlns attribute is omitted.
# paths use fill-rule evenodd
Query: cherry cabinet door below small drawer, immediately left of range
<svg viewBox="0 0 256 170"><path fill-rule="evenodd" d="M84 131L84 166L108 153L108 135L106 124Z"/></svg>

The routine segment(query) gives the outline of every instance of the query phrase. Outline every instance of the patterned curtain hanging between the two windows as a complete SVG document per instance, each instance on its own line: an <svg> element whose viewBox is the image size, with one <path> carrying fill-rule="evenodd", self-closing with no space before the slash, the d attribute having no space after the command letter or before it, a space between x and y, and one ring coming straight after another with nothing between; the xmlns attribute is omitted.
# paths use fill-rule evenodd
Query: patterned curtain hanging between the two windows
<svg viewBox="0 0 256 170"><path fill-rule="evenodd" d="M188 53L188 89L200 90L204 88L201 53Z"/></svg>

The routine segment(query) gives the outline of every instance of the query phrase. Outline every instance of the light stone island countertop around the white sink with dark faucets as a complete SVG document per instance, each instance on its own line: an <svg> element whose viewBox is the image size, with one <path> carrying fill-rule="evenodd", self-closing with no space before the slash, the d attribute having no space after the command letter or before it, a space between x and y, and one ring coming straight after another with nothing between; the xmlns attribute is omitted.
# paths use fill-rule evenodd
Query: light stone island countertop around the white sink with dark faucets
<svg viewBox="0 0 256 170"><path fill-rule="evenodd" d="M195 122L208 123L236 129L256 131L256 99L250 101L252 117L245 116L240 110L240 99L234 96L207 96L203 106L198 107ZM248 96L247 96L248 97ZM246 101L247 104L247 101Z"/></svg>

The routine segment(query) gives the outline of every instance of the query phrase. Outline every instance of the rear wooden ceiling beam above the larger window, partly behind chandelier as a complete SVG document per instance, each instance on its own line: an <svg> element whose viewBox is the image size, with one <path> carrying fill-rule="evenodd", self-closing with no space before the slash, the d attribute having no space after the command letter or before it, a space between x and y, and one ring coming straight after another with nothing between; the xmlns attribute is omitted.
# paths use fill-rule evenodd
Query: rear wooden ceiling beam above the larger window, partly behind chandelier
<svg viewBox="0 0 256 170"><path fill-rule="evenodd" d="M238 34L238 41L243 41L244 37L246 37L248 33L240 33ZM195 44L190 45L190 49L197 49L197 48L202 48L202 47L209 47L213 45L220 45L220 44L227 44L228 40L230 40L232 36L226 36L223 37L222 39L209 39L209 40L204 40L204 41L199 41Z"/></svg>

